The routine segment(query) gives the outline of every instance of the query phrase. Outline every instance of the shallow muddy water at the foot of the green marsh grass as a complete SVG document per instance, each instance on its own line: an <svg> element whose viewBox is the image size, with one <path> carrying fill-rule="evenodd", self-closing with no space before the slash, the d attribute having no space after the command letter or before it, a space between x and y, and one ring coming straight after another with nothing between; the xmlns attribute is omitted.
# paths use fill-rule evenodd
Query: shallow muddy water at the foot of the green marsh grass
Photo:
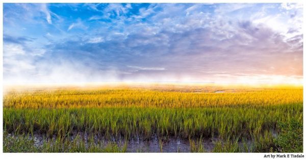
<svg viewBox="0 0 306 160"><path fill-rule="evenodd" d="M14 135L9 134L8 136L14 137ZM273 132L273 137L276 137L276 132ZM77 141L84 141L85 146L88 147L90 136L86 132L75 132L69 137L69 141L73 141L78 137ZM35 134L33 137L29 136L30 139L33 138L34 145L36 147L43 146L46 141L42 135ZM126 152L191 152L190 141L186 139L168 137L166 140L161 140L157 136L152 136L149 140L143 140L139 137L125 140L122 137L107 139L105 137L95 135L93 137L94 143L102 143L105 146L109 143L116 143L119 147L122 147L124 144L126 145ZM50 141L50 139L48 140ZM51 141L56 141L56 136L54 136ZM199 140L192 140L195 142L195 145L199 145ZM204 147L204 152L212 152L215 147L215 142L220 141L217 138L210 139L202 139L201 145ZM250 151L250 147L253 142L250 140L246 141L248 150ZM242 146L242 142L239 142L239 146Z"/></svg>

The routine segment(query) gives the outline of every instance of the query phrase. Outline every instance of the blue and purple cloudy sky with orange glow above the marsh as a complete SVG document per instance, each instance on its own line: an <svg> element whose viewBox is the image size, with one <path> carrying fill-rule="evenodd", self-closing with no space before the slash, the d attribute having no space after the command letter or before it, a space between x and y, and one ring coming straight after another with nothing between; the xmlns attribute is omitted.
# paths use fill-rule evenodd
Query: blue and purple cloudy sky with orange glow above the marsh
<svg viewBox="0 0 306 160"><path fill-rule="evenodd" d="M302 83L301 4L4 4L5 83Z"/></svg>

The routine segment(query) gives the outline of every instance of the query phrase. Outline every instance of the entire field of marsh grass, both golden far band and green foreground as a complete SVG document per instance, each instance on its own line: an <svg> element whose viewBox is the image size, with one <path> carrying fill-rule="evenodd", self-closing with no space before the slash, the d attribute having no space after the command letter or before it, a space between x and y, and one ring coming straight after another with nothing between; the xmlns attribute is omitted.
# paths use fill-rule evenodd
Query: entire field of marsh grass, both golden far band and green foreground
<svg viewBox="0 0 306 160"><path fill-rule="evenodd" d="M191 152L206 152L202 140L212 138L219 140L213 152L282 151L275 150L273 132L286 132L279 126L292 119L302 124L302 102L302 89L296 88L218 94L139 89L12 91L4 96L3 124L8 133L21 138L5 139L10 147L4 151L126 151L115 144L88 146L84 140L69 140L75 132L109 140L157 136L161 151L169 137L189 139ZM29 145L32 141L22 139L35 134L56 140L35 150ZM278 147L292 136L278 141ZM21 145L28 148L18 150Z"/></svg>

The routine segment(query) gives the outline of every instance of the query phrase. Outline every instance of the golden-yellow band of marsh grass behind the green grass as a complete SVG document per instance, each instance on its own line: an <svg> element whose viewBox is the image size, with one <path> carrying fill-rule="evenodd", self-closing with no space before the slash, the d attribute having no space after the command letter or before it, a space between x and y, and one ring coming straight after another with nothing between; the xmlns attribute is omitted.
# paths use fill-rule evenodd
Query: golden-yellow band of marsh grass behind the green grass
<svg viewBox="0 0 306 160"><path fill-rule="evenodd" d="M8 91L6 108L222 108L254 107L302 101L301 88L242 90L235 93L194 93L146 89Z"/></svg>

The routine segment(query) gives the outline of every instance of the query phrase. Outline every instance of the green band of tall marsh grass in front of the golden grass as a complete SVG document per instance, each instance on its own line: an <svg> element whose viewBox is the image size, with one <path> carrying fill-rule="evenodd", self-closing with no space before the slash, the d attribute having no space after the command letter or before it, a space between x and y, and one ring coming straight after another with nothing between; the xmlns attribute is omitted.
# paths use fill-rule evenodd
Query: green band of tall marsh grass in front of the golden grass
<svg viewBox="0 0 306 160"><path fill-rule="evenodd" d="M256 137L275 130L278 121L302 120L302 104L264 108L85 108L12 109L4 108L4 127L9 132L67 137L87 131L105 137L141 136L150 139L180 137L236 139Z"/></svg>

